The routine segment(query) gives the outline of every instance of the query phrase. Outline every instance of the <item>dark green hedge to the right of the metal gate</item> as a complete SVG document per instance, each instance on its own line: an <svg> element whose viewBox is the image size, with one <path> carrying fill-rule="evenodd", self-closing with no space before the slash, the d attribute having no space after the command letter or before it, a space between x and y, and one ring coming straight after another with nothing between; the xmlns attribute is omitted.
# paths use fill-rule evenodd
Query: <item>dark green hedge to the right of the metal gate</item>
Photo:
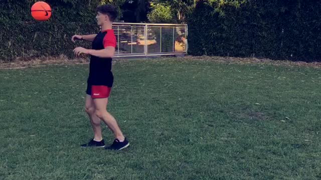
<svg viewBox="0 0 321 180"><path fill-rule="evenodd" d="M321 2L199 1L188 14L189 53L321 61Z"/></svg>

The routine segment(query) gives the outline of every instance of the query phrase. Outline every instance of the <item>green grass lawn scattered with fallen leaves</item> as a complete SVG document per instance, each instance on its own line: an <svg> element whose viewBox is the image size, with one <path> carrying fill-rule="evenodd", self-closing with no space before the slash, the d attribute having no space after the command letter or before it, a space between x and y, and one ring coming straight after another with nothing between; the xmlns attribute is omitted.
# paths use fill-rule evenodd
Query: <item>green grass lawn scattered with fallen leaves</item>
<svg viewBox="0 0 321 180"><path fill-rule="evenodd" d="M321 178L319 69L148 59L113 72L121 152L79 147L88 65L0 70L0 179Z"/></svg>

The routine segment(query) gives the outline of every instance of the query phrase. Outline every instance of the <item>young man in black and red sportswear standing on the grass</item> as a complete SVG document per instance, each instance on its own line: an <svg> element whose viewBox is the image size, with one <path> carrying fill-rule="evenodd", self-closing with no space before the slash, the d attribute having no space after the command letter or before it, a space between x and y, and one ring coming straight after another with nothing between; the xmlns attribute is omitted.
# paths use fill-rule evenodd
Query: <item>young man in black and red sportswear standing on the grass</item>
<svg viewBox="0 0 321 180"><path fill-rule="evenodd" d="M92 42L92 49L76 47L75 55L89 54L89 77L86 90L86 112L94 130L94 138L81 147L105 147L101 135L100 120L103 120L115 136L113 143L106 149L121 150L128 147L129 142L122 134L115 118L107 112L107 103L113 84L111 60L116 48L116 36L112 22L117 17L117 10L110 4L97 7L97 24L101 27L98 34L74 35L72 41L83 39Z"/></svg>

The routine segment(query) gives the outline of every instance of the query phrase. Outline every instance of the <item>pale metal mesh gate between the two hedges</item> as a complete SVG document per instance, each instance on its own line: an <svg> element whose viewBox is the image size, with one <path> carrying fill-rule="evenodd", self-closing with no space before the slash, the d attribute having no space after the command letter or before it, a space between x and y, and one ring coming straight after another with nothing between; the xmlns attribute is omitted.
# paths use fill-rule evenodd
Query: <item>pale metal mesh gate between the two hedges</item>
<svg viewBox="0 0 321 180"><path fill-rule="evenodd" d="M187 53L187 24L114 22L115 57Z"/></svg>

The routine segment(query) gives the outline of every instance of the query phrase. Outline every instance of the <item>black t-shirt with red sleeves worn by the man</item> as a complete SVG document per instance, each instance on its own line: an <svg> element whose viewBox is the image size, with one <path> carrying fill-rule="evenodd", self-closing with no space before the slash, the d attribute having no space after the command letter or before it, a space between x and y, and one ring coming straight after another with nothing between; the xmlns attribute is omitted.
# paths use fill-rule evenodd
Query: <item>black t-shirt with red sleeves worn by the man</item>
<svg viewBox="0 0 321 180"><path fill-rule="evenodd" d="M100 31L92 42L92 49L100 50L107 46L116 48L116 36L113 29ZM113 74L111 72L111 57L90 57L88 83L91 85L106 85L112 87Z"/></svg>

